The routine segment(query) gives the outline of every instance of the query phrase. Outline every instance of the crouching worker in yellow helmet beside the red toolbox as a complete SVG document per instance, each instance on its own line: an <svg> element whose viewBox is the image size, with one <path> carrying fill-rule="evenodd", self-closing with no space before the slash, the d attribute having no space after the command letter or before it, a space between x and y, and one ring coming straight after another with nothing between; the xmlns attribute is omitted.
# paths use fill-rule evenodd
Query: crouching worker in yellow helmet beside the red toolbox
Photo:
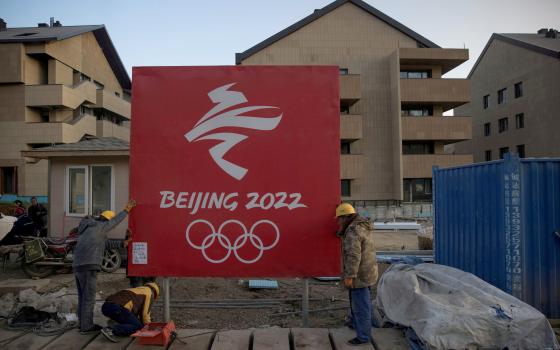
<svg viewBox="0 0 560 350"><path fill-rule="evenodd" d="M103 303L101 312L117 322L117 325L105 327L101 333L116 343L118 339L115 336L127 337L150 323L150 310L158 295L159 287L154 278L142 287L121 290L109 296Z"/></svg>

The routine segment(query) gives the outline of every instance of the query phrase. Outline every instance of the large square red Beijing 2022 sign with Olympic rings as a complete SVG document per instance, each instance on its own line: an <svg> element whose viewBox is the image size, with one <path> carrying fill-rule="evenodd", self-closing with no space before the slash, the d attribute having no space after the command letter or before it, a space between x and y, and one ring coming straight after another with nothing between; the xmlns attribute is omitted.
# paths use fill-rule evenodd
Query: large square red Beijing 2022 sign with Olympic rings
<svg viewBox="0 0 560 350"><path fill-rule="evenodd" d="M340 273L337 67L132 75L130 274Z"/></svg>

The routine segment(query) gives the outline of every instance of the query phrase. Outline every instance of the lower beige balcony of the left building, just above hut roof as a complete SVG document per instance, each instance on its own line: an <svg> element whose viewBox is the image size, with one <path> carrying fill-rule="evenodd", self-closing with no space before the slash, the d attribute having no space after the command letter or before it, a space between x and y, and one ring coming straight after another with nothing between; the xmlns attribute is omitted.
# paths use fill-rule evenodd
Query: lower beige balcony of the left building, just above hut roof
<svg viewBox="0 0 560 350"><path fill-rule="evenodd" d="M92 115L83 115L73 123L26 123L21 129L25 143L73 143L85 135L95 135L96 120Z"/></svg>

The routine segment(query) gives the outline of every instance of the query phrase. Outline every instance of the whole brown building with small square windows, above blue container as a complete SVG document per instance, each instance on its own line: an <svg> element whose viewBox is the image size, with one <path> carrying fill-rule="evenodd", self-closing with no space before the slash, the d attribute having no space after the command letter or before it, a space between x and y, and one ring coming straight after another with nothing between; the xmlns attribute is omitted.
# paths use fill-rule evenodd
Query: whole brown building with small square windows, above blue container
<svg viewBox="0 0 560 350"><path fill-rule="evenodd" d="M520 157L560 157L560 35L493 34L473 66L473 137L454 145L475 162Z"/></svg>

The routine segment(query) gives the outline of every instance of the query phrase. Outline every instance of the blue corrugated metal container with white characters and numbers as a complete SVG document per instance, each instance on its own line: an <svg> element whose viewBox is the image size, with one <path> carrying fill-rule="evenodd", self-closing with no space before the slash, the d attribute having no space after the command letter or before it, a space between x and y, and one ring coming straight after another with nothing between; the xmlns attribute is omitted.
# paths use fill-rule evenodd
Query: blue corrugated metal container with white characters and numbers
<svg viewBox="0 0 560 350"><path fill-rule="evenodd" d="M436 262L560 318L560 159L434 168L433 191Z"/></svg>

